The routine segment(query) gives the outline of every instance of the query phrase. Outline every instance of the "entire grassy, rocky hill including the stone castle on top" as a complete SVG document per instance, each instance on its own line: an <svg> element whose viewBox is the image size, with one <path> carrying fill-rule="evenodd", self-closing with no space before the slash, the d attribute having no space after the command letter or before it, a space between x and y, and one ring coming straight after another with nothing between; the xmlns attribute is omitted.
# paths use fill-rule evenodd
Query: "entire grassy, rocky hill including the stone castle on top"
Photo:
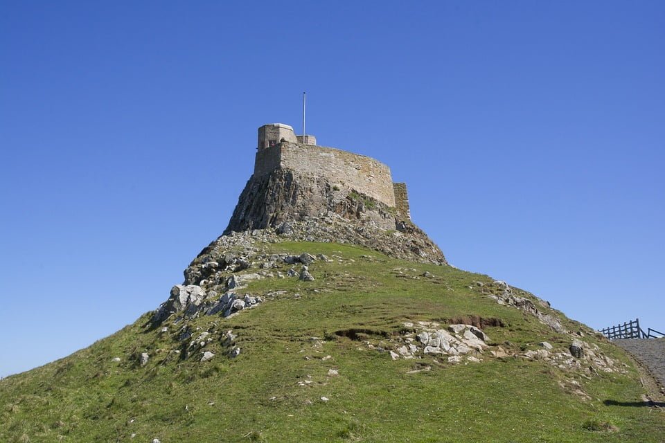
<svg viewBox="0 0 665 443"><path fill-rule="evenodd" d="M282 138L157 309L0 382L0 442L662 443L626 352L448 265L387 165Z"/></svg>

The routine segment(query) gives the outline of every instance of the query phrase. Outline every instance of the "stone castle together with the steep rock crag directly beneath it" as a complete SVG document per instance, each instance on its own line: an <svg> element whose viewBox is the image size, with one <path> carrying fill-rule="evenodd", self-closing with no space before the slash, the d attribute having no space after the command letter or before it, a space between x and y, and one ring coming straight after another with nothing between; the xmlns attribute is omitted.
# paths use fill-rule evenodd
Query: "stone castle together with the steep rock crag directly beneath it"
<svg viewBox="0 0 665 443"><path fill-rule="evenodd" d="M447 264L441 249L411 221L406 185L393 183L386 165L351 152L298 143L292 128L282 124L259 129L254 174L224 235L255 229Z"/></svg>

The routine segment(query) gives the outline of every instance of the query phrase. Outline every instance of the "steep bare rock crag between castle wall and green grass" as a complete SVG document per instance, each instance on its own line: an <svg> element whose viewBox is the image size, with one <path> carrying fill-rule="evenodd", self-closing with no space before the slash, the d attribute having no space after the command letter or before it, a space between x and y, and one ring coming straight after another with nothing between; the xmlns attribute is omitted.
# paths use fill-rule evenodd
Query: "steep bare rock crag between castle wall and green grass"
<svg viewBox="0 0 665 443"><path fill-rule="evenodd" d="M343 184L281 169L251 177L224 235L265 230L292 240L358 244L392 257L447 264L441 249L395 208Z"/></svg>

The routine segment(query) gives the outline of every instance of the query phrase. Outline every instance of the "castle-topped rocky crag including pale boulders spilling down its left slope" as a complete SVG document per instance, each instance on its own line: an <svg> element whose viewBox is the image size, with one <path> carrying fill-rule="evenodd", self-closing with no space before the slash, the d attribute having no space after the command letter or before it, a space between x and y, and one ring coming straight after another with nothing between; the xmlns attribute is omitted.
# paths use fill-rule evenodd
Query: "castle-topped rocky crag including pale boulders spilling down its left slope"
<svg viewBox="0 0 665 443"><path fill-rule="evenodd" d="M257 246L263 243L353 244L412 262L447 265L441 249L411 221L404 183L398 187L402 201L396 201L387 166L366 156L288 142L287 138L295 138L287 125L259 129L254 174L229 226L185 269L183 284L172 289L170 298L154 314L154 327L180 311L186 318L218 312L229 316L263 301L260 297L237 298L234 289L242 282L294 275L312 278L307 266L316 257L257 253ZM308 136L312 140L315 138ZM294 154L296 161L290 158ZM326 164L312 167L321 162L321 154L325 154ZM335 168L329 168L330 164ZM382 177L366 181L357 177L358 170ZM304 269L292 267L285 273L279 270L284 263L301 264ZM250 267L256 271L248 271Z"/></svg>

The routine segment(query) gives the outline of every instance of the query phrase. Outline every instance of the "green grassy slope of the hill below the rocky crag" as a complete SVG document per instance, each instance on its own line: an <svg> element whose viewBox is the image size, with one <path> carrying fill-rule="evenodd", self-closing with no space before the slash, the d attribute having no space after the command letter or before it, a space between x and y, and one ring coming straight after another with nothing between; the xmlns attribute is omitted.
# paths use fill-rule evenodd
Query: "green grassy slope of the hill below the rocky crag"
<svg viewBox="0 0 665 443"><path fill-rule="evenodd" d="M329 260L310 265L312 282L264 278L238 289L265 301L236 315L171 316L151 328L144 314L3 379L0 442L665 440L664 414L641 406L645 388L623 350L529 293L512 289L568 332L499 304L504 287L486 275L340 244L260 252ZM488 346L459 363L421 349L391 356L419 345L425 329L458 323L481 328ZM570 355L574 340L587 356ZM553 349L542 352L543 341ZM204 352L214 356L201 361Z"/></svg>

